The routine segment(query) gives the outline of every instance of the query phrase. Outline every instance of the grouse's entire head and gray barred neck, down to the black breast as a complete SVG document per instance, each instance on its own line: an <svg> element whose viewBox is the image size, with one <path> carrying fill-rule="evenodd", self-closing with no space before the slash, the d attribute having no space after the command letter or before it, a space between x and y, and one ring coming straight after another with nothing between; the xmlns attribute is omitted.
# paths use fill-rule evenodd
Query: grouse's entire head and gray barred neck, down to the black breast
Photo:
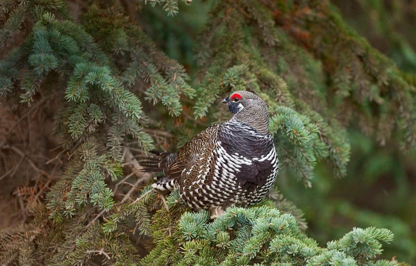
<svg viewBox="0 0 416 266"><path fill-rule="evenodd" d="M238 90L223 99L221 103L227 103L230 113L235 120L251 125L262 133L268 133L269 113L266 103L254 93Z"/></svg>

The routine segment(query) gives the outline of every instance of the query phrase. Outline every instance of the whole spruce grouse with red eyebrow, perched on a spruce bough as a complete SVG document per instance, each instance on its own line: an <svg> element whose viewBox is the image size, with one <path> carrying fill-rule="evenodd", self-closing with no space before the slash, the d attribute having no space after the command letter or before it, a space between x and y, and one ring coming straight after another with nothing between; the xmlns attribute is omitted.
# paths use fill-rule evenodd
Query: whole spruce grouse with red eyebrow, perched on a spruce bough
<svg viewBox="0 0 416 266"><path fill-rule="evenodd" d="M266 103L245 90L221 103L228 104L232 118L209 126L176 153L151 151L153 156L139 161L144 172L163 172L153 189L177 189L189 207L208 210L211 218L230 206L259 203L279 168Z"/></svg>

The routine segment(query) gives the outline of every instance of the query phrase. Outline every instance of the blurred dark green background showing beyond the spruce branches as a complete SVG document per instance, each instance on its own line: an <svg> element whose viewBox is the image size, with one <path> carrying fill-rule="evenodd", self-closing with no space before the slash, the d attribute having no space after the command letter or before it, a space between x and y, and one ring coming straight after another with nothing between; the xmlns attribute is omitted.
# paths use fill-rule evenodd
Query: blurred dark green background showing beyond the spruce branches
<svg viewBox="0 0 416 266"><path fill-rule="evenodd" d="M333 0L335 9L360 35L389 56L399 68L416 73L416 0ZM203 28L210 2L181 5L174 17L146 6L139 20L171 58L195 77L193 45ZM376 226L394 232L382 258L416 265L416 151L404 153L395 141L380 146L351 123L352 146L346 178L336 179L328 162L315 168L312 188L305 188L289 171L278 175L283 195L305 212L307 233L323 246L352 227Z"/></svg>

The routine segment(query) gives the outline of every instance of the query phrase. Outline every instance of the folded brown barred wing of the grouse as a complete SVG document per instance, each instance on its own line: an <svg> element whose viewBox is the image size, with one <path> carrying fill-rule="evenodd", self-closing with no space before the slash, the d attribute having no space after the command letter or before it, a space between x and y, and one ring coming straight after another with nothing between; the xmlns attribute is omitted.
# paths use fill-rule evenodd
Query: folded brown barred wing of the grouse
<svg viewBox="0 0 416 266"><path fill-rule="evenodd" d="M183 169L192 165L197 159L205 158L210 155L218 140L218 128L221 124L211 125L201 131L197 136L188 141L176 154L176 163L169 167L169 177L178 178ZM201 159L201 161L204 161Z"/></svg>

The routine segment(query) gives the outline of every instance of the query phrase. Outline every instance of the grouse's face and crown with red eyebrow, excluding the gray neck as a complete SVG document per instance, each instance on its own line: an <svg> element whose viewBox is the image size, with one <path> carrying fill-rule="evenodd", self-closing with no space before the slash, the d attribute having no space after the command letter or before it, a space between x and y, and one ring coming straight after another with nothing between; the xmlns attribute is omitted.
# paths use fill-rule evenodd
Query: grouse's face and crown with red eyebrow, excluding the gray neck
<svg viewBox="0 0 416 266"><path fill-rule="evenodd" d="M230 113L234 115L243 112L244 109L247 110L255 107L266 108L267 110L266 103L259 96L245 90L238 90L231 93L221 103L227 103Z"/></svg>

